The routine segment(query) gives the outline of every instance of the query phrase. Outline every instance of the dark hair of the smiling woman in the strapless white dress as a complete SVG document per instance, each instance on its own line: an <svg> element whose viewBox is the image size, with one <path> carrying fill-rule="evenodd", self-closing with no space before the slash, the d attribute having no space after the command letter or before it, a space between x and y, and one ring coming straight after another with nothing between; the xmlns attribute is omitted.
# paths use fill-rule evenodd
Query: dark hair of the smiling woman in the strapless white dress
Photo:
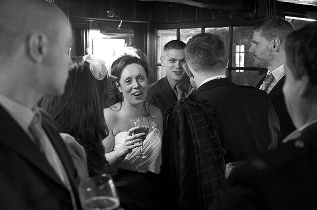
<svg viewBox="0 0 317 210"><path fill-rule="evenodd" d="M123 101L123 95L122 93L118 90L117 84L120 84L119 80L121 78L121 74L123 69L130 65L130 64L138 64L143 67L145 71L146 78L148 79L151 71L148 66L148 64L136 57L130 56L130 55L124 55L122 57L119 57L117 60L115 60L112 65L111 65L111 77L110 77L110 96L109 100L107 103L107 107L112 106L113 104L117 102L122 102ZM116 84L117 82L117 84ZM146 113L146 115L149 115L148 109L146 108L146 103L150 103L150 96L149 96L149 91L147 91L147 96L145 99L145 102L143 103L143 109Z"/></svg>

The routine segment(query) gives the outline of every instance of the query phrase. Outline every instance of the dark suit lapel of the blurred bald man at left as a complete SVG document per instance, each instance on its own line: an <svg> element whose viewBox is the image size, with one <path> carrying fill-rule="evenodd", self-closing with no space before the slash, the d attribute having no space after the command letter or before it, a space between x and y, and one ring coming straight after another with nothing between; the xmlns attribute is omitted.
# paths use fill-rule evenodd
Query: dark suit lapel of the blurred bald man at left
<svg viewBox="0 0 317 210"><path fill-rule="evenodd" d="M40 152L31 138L24 132L18 123L0 106L0 143L14 150L21 157L34 165L53 181L64 186L54 169Z"/></svg>

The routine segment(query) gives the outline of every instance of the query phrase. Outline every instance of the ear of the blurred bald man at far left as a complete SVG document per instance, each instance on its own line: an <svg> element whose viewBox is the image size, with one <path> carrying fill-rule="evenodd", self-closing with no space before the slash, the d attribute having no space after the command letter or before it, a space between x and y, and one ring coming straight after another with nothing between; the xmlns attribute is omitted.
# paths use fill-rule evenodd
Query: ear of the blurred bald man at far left
<svg viewBox="0 0 317 210"><path fill-rule="evenodd" d="M48 39L46 35L40 32L36 32L30 35L28 39L28 52L30 58L40 63L43 60L44 55L48 50Z"/></svg>

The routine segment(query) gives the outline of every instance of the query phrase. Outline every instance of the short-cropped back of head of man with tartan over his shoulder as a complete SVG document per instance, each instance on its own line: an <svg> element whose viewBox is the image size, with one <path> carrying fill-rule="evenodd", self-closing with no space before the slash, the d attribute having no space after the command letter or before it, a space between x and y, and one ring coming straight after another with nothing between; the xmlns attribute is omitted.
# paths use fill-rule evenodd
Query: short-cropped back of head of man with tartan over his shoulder
<svg viewBox="0 0 317 210"><path fill-rule="evenodd" d="M224 72L227 65L224 42L211 33L197 34L187 42L185 59L188 66L198 74Z"/></svg>

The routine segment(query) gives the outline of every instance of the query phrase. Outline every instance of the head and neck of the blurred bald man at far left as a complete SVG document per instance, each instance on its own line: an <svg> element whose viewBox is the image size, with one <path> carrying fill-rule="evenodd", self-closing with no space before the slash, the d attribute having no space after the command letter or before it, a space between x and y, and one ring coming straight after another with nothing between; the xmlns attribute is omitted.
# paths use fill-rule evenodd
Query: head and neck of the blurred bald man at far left
<svg viewBox="0 0 317 210"><path fill-rule="evenodd" d="M0 0L0 90L20 85L36 97L61 94L71 65L71 44L70 24L56 5Z"/></svg>

